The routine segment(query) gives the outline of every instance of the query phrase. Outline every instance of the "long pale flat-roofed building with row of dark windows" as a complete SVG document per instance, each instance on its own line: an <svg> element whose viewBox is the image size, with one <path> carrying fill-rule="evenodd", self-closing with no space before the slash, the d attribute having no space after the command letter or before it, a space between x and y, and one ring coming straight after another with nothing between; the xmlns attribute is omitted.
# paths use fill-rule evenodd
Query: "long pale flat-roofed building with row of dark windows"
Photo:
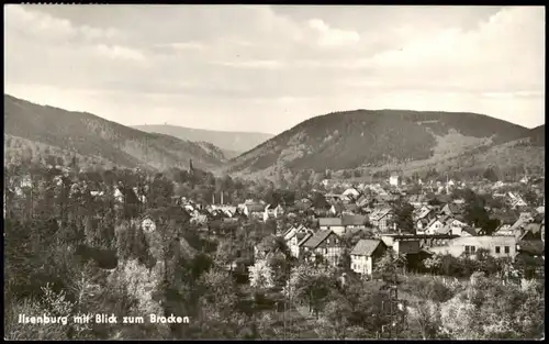
<svg viewBox="0 0 549 344"><path fill-rule="evenodd" d="M450 254L455 257L474 255L479 248L486 249L491 256L501 258L516 256L517 238L514 236L460 236L450 241L447 246L433 247L439 254Z"/></svg>

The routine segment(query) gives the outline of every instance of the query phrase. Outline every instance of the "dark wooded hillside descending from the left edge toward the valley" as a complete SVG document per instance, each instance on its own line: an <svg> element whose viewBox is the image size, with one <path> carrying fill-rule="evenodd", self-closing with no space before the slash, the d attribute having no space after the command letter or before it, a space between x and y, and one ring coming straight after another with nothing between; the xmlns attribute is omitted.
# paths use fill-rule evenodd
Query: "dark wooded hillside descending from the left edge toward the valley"
<svg viewBox="0 0 549 344"><path fill-rule="evenodd" d="M107 121L91 113L38 106L4 95L5 158L36 147L49 153L70 152L98 164L161 170L188 167L219 167L225 157L210 143L181 141L145 133ZM40 149L38 149L40 151ZM42 151L42 152L43 152Z"/></svg>

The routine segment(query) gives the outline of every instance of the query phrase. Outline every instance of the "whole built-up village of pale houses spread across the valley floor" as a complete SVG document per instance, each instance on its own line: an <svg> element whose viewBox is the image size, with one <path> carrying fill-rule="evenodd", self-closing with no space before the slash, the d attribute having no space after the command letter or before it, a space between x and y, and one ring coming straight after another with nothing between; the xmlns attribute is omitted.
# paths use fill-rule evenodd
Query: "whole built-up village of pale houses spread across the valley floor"
<svg viewBox="0 0 549 344"><path fill-rule="evenodd" d="M376 260L386 249L405 255L411 269L421 269L421 262L435 254L474 256L479 249L485 249L493 257L512 260L523 255L545 258L544 190L528 184L526 177L517 185L531 188L537 196L535 203L528 203L517 192L504 191L508 185L501 181L468 186L453 180L446 184L419 181L421 193L407 195L408 189L406 185L399 184L399 177L391 177L383 186L347 185L348 188L340 195L321 193L324 203L320 207L311 198L292 204L284 203L284 200L270 204L262 200L225 204L223 193L217 199L214 196L211 204L205 207L184 197L177 202L188 211L191 222L202 225L201 231L208 235L223 236L243 220L274 221L276 232L272 234L283 238L295 258L309 255L314 259L321 256L333 266L338 265L344 254L343 237L363 235L365 238L350 249L350 269L371 277ZM452 197L466 188L491 196L493 206L486 204L484 210L495 219L493 229L468 221L466 200ZM434 198L429 199L427 193ZM396 219L399 214L395 214L396 200L404 200L411 206L412 228L401 228ZM144 219L143 223L154 225L154 219ZM254 247L256 256L262 246L258 244ZM261 252L259 256L267 254Z"/></svg>

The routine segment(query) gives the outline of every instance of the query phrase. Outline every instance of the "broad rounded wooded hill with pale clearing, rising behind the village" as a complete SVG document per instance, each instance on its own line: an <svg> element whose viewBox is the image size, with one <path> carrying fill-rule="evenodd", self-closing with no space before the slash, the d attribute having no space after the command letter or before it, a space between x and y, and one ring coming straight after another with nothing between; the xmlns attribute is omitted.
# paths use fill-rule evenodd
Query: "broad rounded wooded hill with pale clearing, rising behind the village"
<svg viewBox="0 0 549 344"><path fill-rule="evenodd" d="M528 129L477 113L356 110L304 121L231 160L228 171L382 168L433 163L528 135Z"/></svg>

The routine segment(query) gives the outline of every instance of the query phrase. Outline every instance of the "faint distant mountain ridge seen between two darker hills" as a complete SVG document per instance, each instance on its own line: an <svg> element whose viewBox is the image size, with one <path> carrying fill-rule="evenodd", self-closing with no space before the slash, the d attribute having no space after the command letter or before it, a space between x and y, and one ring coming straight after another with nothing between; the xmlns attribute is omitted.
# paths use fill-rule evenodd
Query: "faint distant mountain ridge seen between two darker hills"
<svg viewBox="0 0 549 344"><path fill-rule="evenodd" d="M222 148L227 157L237 156L273 136L265 133L222 132L167 124L135 125L133 127L147 133L160 133L181 140L210 142Z"/></svg>

